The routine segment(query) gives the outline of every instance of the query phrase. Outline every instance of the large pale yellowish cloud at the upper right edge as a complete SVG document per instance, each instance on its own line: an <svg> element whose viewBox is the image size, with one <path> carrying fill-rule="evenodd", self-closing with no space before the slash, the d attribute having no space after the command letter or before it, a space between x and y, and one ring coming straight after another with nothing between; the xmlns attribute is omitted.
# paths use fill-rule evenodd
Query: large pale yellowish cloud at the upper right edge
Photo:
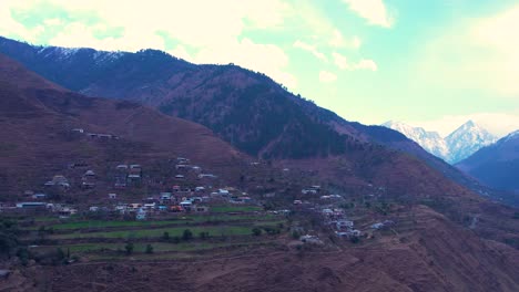
<svg viewBox="0 0 519 292"><path fill-rule="evenodd" d="M459 20L421 49L420 82L495 97L519 95L519 6L479 19Z"/></svg>

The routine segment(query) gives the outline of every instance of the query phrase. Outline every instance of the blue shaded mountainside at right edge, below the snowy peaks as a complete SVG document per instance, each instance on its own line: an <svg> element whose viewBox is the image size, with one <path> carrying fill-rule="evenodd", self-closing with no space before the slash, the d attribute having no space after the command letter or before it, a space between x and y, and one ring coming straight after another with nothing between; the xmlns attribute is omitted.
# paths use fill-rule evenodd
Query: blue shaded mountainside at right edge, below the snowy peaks
<svg viewBox="0 0 519 292"><path fill-rule="evenodd" d="M456 166L490 187L519 192L518 132L481 148Z"/></svg>

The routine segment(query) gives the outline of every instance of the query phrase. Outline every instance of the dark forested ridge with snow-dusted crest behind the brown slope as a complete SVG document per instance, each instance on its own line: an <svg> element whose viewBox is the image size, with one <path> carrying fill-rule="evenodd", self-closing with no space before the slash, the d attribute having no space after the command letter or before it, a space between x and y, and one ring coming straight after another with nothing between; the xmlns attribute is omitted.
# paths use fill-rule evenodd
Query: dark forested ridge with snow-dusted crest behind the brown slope
<svg viewBox="0 0 519 292"><path fill-rule="evenodd" d="M311 160L348 157L352 149L379 144L418 157L474 190L481 189L474 179L404 135L347 122L288 93L264 74L232 64L194 65L153 50L114 53L32 46L8 39L0 39L0 52L69 90L135 101L205 125L252 156Z"/></svg>

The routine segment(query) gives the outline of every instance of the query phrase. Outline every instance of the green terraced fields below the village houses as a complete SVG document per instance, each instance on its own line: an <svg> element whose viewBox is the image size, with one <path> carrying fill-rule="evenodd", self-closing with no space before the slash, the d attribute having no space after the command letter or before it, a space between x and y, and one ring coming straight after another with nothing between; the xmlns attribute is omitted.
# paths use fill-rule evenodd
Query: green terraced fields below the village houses
<svg viewBox="0 0 519 292"><path fill-rule="evenodd" d="M70 221L34 221L35 226L26 227L32 234L27 240L47 233L45 241L32 247L32 251L60 250L90 260L126 259L129 255L134 259L190 258L200 252L232 252L276 244L287 232L285 217L247 206L221 206L207 215L172 215L150 221L82 220L78 217ZM132 246L130 252L126 251L129 244Z"/></svg>

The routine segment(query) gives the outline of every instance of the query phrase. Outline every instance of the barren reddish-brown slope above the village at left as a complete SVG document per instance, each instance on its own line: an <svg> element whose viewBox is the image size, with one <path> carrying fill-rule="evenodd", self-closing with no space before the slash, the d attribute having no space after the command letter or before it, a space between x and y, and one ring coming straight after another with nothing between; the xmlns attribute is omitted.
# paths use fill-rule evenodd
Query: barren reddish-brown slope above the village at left
<svg viewBox="0 0 519 292"><path fill-rule="evenodd" d="M110 163L142 164L187 156L221 170L222 176L237 177L233 167L245 156L210 129L139 104L86 98L0 58L0 179L7 194L16 196L41 186L78 161L105 169ZM78 137L72 128L120 139Z"/></svg>

